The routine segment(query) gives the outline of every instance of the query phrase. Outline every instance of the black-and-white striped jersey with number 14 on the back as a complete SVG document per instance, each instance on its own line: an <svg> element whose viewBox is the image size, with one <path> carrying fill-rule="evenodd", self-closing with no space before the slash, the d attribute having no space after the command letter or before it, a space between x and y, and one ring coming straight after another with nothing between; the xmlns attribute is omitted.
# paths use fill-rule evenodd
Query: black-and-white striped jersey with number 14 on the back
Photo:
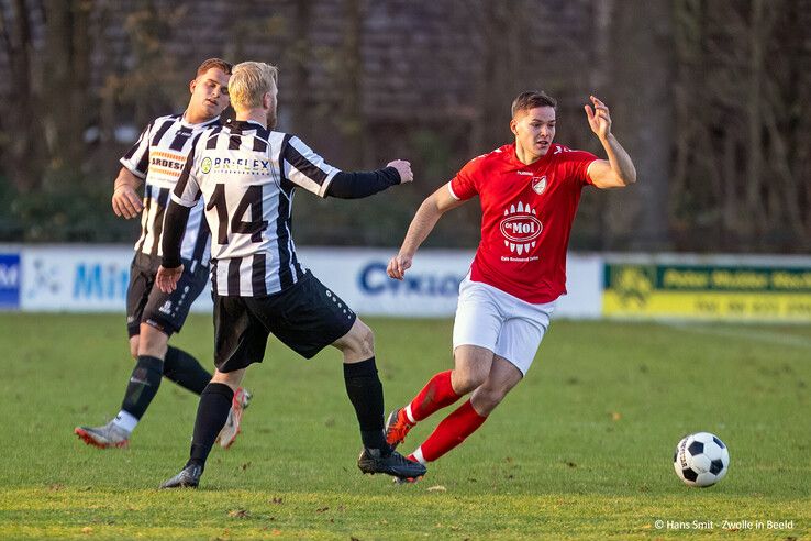
<svg viewBox="0 0 811 541"><path fill-rule="evenodd" d="M291 235L293 191L326 197L337 173L300 139L255 122L200 134L171 199L192 207L202 195L214 292L262 297L296 284L305 269Z"/></svg>

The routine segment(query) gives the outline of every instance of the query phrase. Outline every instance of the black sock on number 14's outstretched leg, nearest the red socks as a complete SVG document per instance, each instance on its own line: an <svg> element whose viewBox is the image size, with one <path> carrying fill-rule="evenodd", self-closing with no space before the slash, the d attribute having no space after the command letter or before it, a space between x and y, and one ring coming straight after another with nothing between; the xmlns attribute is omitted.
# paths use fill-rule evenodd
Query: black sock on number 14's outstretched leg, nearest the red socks
<svg viewBox="0 0 811 541"><path fill-rule="evenodd" d="M377 377L375 357L359 363L344 363L344 382L360 426L365 448L389 451L384 435L382 384Z"/></svg>

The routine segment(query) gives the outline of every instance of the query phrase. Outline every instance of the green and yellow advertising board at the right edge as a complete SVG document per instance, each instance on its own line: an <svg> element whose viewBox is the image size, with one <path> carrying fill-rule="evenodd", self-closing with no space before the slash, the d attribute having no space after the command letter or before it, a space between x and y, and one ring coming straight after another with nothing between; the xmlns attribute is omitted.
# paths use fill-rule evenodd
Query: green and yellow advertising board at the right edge
<svg viewBox="0 0 811 541"><path fill-rule="evenodd" d="M811 322L811 268L607 263L602 314Z"/></svg>

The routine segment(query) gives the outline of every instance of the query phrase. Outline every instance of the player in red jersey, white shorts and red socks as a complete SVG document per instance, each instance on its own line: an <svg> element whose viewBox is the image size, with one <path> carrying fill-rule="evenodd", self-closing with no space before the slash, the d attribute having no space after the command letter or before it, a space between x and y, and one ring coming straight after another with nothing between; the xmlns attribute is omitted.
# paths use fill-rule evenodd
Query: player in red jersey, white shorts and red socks
<svg viewBox="0 0 811 541"><path fill-rule="evenodd" d="M400 252L388 265L402 279L416 249L446 211L478 195L481 242L459 286L453 332L454 369L434 375L386 423L389 444L435 411L470 394L409 456L435 461L478 429L532 365L566 292L566 249L584 186L622 188L636 180L625 150L611 133L606 104L585 106L591 131L608 159L554 144L557 102L523 92L512 103L515 142L478 156L429 196L411 221ZM415 479L411 479L415 481Z"/></svg>

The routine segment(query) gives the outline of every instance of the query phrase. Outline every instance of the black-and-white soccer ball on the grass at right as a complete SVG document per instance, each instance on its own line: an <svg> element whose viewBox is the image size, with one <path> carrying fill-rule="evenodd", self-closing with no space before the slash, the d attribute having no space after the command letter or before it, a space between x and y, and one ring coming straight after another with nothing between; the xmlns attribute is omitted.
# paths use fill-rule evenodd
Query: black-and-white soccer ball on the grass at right
<svg viewBox="0 0 811 541"><path fill-rule="evenodd" d="M686 435L673 454L676 475L689 486L711 486L724 478L730 451L716 435L697 432Z"/></svg>

